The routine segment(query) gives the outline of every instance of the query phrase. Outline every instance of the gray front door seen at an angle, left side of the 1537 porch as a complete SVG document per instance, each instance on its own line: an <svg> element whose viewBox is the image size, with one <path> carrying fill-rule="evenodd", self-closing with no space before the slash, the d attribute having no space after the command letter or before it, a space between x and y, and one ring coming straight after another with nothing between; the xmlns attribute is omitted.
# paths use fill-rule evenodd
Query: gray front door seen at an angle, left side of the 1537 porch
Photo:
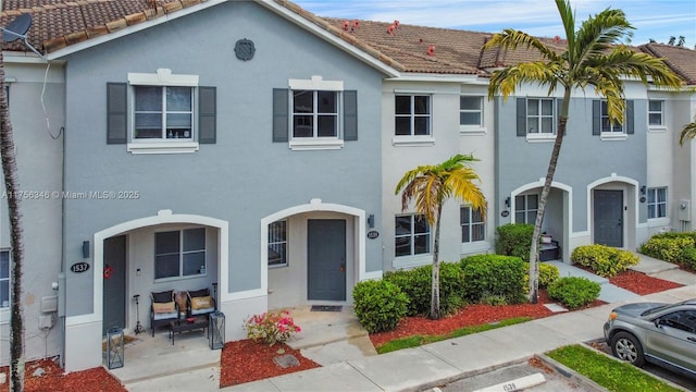
<svg viewBox="0 0 696 392"><path fill-rule="evenodd" d="M112 327L126 327L126 236L104 240L103 334ZM142 304L140 304L142 306ZM146 309L147 310L147 309ZM140 309L140 317L144 309Z"/></svg>

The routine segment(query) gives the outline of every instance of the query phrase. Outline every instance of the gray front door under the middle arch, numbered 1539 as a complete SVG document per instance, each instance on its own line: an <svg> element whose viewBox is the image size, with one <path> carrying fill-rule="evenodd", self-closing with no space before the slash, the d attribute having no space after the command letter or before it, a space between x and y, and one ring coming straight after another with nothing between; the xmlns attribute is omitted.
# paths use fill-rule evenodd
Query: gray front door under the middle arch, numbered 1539
<svg viewBox="0 0 696 392"><path fill-rule="evenodd" d="M346 301L346 221L311 219L307 232L308 298Z"/></svg>

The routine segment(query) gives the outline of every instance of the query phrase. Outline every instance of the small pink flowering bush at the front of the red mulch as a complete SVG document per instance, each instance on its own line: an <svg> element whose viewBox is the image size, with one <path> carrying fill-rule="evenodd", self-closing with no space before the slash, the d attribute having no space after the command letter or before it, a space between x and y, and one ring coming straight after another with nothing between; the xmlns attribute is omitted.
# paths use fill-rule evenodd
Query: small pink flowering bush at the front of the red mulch
<svg viewBox="0 0 696 392"><path fill-rule="evenodd" d="M247 338L269 345L285 343L293 333L301 331L287 310L253 315L245 320L244 329L247 331Z"/></svg>

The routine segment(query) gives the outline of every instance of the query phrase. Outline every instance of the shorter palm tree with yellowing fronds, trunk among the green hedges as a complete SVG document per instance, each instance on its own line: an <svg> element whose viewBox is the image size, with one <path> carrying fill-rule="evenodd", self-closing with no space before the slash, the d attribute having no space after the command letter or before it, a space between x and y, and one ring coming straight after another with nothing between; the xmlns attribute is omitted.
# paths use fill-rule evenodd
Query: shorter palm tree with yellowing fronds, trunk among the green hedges
<svg viewBox="0 0 696 392"><path fill-rule="evenodd" d="M471 169L471 162L476 161L471 155L456 155L443 163L420 166L403 174L396 185L395 194L401 194L401 210L406 211L411 201L414 201L415 211L425 217L432 228L435 226L433 244L433 273L432 273L432 319L438 319L439 314L439 218L443 213L443 205L448 198L459 199L471 204L473 209L486 213L486 199L483 192L474 183L478 175Z"/></svg>

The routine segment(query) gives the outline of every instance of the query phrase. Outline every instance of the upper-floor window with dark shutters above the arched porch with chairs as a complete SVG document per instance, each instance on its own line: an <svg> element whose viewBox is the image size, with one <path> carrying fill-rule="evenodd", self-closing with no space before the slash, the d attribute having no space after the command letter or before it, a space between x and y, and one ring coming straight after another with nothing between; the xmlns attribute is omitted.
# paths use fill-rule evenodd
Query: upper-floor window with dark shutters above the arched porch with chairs
<svg viewBox="0 0 696 392"><path fill-rule="evenodd" d="M194 88L134 86L134 139L194 138Z"/></svg>

